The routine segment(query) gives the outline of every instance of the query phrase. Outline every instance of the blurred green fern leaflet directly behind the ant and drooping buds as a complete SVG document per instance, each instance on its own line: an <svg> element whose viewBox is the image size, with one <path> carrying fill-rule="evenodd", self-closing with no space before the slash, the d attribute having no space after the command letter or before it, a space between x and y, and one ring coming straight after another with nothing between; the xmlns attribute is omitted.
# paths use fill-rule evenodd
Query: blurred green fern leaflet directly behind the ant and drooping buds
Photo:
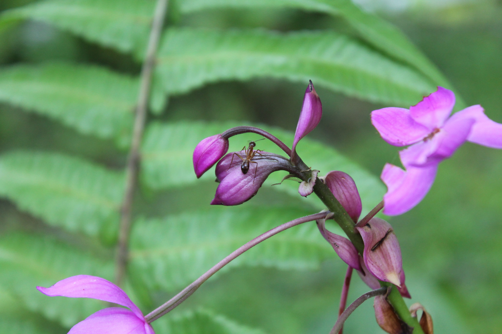
<svg viewBox="0 0 502 334"><path fill-rule="evenodd" d="M163 189L193 183L197 180L193 171L192 154L195 146L204 138L222 133L237 126L250 125L242 123L201 123L180 122L171 124L152 123L146 131L143 142L142 180L153 189ZM256 124L255 124L256 125ZM277 136L287 145L293 142L293 133L278 128L258 125ZM243 134L230 138L228 152L239 151L248 140L256 140L256 134ZM308 149L303 150L303 147ZM275 144L269 140L261 141L258 148L265 151L285 155ZM304 138L298 144L298 153L303 161L313 169L325 175L331 170L341 170L350 174L359 190L364 211L369 211L382 200L385 187L374 175L369 174L357 164L341 155L335 149L319 142ZM265 186L281 182L286 172L273 173L265 182ZM202 180L214 180L213 170L207 171ZM277 191L284 191L299 197L298 183L285 181L274 186ZM304 201L323 209L324 205L315 196L303 198Z"/></svg>

